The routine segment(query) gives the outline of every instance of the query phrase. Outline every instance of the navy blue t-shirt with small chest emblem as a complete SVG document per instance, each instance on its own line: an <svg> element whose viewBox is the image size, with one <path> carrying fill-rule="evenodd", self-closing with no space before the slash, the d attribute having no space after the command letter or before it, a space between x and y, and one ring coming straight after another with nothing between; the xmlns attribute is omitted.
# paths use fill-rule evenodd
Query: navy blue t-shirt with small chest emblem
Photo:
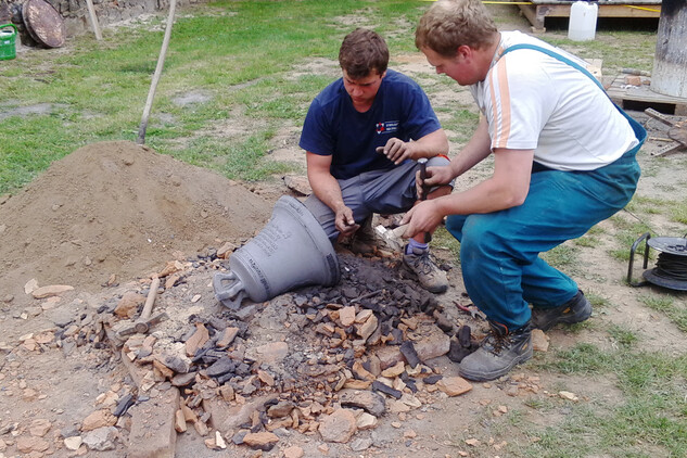
<svg viewBox="0 0 687 458"><path fill-rule="evenodd" d="M376 151L390 138L417 140L440 128L420 86L389 69L372 106L365 113L353 106L343 78L325 88L310 104L298 144L314 154L332 155L331 174L346 179L393 167L386 156Z"/></svg>

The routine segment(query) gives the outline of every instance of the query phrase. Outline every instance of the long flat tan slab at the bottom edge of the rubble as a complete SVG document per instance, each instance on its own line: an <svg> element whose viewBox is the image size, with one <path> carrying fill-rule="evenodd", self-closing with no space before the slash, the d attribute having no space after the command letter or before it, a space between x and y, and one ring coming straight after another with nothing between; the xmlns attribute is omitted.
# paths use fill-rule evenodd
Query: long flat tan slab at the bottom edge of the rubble
<svg viewBox="0 0 687 458"><path fill-rule="evenodd" d="M157 397L132 406L129 409L131 429L127 458L174 458L178 409L179 390L176 387L158 392Z"/></svg>

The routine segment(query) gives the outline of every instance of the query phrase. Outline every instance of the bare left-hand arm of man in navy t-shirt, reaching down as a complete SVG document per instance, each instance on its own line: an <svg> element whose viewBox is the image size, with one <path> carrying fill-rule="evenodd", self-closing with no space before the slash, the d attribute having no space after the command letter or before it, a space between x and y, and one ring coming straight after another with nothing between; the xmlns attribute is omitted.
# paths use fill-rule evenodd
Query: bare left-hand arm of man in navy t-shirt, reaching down
<svg viewBox="0 0 687 458"><path fill-rule="evenodd" d="M328 207L334 212L336 229L344 236L355 232L359 225L353 219L353 212L348 208L341 195L341 187L339 181L329 170L332 156L322 156L319 154L306 152L308 181L313 192Z"/></svg>

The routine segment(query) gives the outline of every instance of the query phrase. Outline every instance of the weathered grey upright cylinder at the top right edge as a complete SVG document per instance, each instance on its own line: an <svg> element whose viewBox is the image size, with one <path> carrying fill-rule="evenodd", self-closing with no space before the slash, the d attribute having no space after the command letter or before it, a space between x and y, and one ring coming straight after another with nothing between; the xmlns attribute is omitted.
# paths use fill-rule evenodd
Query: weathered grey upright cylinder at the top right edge
<svg viewBox="0 0 687 458"><path fill-rule="evenodd" d="M663 0L651 73L651 90L687 98L687 2Z"/></svg>

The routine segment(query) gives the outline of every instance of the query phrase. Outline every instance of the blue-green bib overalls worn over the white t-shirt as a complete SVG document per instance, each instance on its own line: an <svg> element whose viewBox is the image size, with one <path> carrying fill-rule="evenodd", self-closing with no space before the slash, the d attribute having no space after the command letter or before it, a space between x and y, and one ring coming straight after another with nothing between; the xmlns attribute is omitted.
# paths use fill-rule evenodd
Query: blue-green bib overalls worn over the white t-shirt
<svg viewBox="0 0 687 458"><path fill-rule="evenodd" d="M544 48L517 44L504 54L524 48L567 62L596 81L580 65ZM615 162L585 171L554 170L535 163L522 205L446 219L446 229L460 241L466 290L489 320L514 330L530 321L529 304L557 307L577 293L577 284L549 266L539 253L584 236L631 201L640 175L635 156L647 132L619 110L629 120L639 144Z"/></svg>

